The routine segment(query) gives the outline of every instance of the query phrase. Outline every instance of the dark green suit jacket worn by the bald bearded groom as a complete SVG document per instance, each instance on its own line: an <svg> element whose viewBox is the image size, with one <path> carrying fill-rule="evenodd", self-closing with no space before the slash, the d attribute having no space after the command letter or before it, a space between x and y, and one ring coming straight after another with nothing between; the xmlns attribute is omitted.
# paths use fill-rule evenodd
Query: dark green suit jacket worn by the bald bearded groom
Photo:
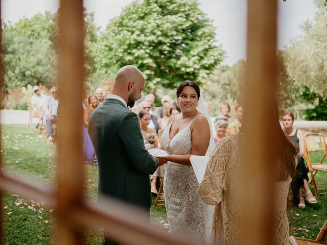
<svg viewBox="0 0 327 245"><path fill-rule="evenodd" d="M88 119L88 133L97 154L99 193L149 209L149 174L157 159L144 146L139 120L122 102L105 99Z"/></svg>

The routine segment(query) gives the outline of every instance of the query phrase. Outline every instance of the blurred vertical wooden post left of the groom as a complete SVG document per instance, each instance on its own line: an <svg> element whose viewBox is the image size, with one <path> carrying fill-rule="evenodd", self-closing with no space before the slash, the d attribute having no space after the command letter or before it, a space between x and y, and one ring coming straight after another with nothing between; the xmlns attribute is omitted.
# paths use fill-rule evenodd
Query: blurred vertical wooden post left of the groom
<svg viewBox="0 0 327 245"><path fill-rule="evenodd" d="M61 0L59 9L59 144L57 244L83 244L65 222L65 212L83 205L82 90L84 82L83 1Z"/></svg>

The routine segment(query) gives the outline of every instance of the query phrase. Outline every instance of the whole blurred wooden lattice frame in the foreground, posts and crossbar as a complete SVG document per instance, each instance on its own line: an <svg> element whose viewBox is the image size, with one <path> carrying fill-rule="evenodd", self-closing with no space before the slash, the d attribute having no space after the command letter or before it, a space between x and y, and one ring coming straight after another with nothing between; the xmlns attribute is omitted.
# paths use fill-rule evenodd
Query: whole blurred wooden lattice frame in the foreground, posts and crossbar
<svg viewBox="0 0 327 245"><path fill-rule="evenodd" d="M1 2L0 2L1 3ZM124 244L194 244L186 238L167 235L166 232L150 228L128 213L129 207L122 207L109 200L106 204L95 207L89 204L83 193L84 173L82 171L82 82L83 69L83 1L60 0L60 37L59 37L59 70L58 84L60 89L60 128L58 135L57 186L44 188L40 183L0 171L0 189L14 192L27 198L44 201L48 207L56 209L56 244L83 244L85 229L104 228L112 238L120 238ZM275 100L275 64L276 64L276 13L277 0L248 0L248 39L247 39L247 78L246 105L248 117L253 124L245 132L251 134L246 139L247 155L245 165L244 186L245 216L243 244L272 244L272 224L270 222L273 209L263 200L271 200L267 186L271 181L267 178L269 164L274 149L269 145L271 135L269 122L273 116L271 102ZM1 31L0 31L1 35ZM0 40L2 43L2 38ZM0 53L2 54L2 45ZM3 61L0 57L0 82L3 85ZM74 91L72 93L71 91ZM254 106L253 106L254 105ZM258 124L258 118L266 118L268 123ZM80 126L79 127L79 122ZM255 149L255 151L253 150ZM262 154L259 154L262 153ZM0 162L0 167L1 167ZM272 165L272 164L270 164ZM251 177L251 178L248 178ZM262 183L258 185L256 183ZM267 192L267 193L265 193ZM109 205L109 204L110 205ZM269 203L269 202L268 202ZM117 210L121 210L117 212ZM2 212L0 212L2 222ZM2 223L0 232L2 232ZM3 233L0 234L3 244ZM271 242L270 242L271 241Z"/></svg>

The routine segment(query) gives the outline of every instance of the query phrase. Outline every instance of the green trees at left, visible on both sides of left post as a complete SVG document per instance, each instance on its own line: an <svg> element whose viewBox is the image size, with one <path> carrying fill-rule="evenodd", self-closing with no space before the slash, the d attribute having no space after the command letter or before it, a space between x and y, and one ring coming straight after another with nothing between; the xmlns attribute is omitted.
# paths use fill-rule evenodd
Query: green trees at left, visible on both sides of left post
<svg viewBox="0 0 327 245"><path fill-rule="evenodd" d="M85 68L88 77L95 72L94 52L98 28L94 15L84 10ZM26 87L42 82L51 87L56 78L56 51L59 35L58 13L45 12L14 24L3 24L5 85Z"/></svg>

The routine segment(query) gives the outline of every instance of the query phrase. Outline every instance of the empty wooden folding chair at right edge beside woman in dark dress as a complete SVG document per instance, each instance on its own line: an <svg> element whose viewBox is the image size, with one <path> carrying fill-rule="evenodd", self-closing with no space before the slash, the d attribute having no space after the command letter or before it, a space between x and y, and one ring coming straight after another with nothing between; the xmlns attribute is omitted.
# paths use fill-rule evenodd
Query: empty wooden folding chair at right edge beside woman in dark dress
<svg viewBox="0 0 327 245"><path fill-rule="evenodd" d="M311 183L317 197L327 194L327 183L317 183L318 171L327 171L327 150L325 138L321 134L307 134L305 136L305 159L311 175ZM314 153L314 154L313 154ZM320 159L320 160L319 160ZM322 192L324 191L324 192Z"/></svg>

